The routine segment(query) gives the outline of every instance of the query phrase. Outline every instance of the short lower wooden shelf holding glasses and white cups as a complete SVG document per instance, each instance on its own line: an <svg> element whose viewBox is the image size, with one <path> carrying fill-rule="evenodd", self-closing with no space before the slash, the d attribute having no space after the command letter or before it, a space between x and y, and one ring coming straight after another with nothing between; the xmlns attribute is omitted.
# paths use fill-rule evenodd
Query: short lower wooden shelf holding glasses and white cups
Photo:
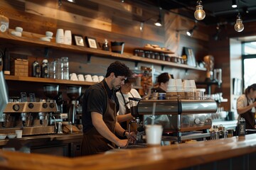
<svg viewBox="0 0 256 170"><path fill-rule="evenodd" d="M4 75L6 80L13 81L30 81L30 82L38 82L38 83L48 83L48 84L69 84L69 85L77 85L77 86L90 86L95 84L95 82L88 81L71 81L71 80L63 80L63 79L46 79L46 78L38 78L38 77L17 77L11 75Z"/></svg>

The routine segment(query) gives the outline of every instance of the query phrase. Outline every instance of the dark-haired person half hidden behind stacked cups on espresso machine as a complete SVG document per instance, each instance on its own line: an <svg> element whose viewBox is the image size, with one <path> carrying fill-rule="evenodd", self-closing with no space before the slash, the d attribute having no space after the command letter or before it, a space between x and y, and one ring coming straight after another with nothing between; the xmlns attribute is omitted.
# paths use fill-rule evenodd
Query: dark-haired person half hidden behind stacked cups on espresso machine
<svg viewBox="0 0 256 170"><path fill-rule="evenodd" d="M166 93L169 79L171 75L168 72L164 72L157 77L156 87L151 89L151 93Z"/></svg>

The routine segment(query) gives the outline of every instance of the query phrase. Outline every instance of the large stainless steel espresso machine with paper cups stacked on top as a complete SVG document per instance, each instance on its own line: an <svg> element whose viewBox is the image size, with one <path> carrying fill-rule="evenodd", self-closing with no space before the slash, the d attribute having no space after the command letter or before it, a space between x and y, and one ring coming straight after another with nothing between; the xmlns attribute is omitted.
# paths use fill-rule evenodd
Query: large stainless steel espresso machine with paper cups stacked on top
<svg viewBox="0 0 256 170"><path fill-rule="evenodd" d="M131 113L142 125L162 125L162 140L181 142L210 137L211 115L217 111L213 100L188 100L172 98L166 100L138 100L129 98ZM133 105L133 106L132 106ZM153 111L153 109L155 111ZM154 112L154 115L152 113Z"/></svg>

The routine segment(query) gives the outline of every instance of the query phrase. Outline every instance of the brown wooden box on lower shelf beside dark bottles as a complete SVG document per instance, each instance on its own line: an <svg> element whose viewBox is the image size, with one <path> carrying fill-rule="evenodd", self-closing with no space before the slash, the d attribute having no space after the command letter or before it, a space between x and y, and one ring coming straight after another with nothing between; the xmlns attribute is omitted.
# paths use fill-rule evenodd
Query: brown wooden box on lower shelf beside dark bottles
<svg viewBox="0 0 256 170"><path fill-rule="evenodd" d="M28 60L11 60L11 75L28 77Z"/></svg>

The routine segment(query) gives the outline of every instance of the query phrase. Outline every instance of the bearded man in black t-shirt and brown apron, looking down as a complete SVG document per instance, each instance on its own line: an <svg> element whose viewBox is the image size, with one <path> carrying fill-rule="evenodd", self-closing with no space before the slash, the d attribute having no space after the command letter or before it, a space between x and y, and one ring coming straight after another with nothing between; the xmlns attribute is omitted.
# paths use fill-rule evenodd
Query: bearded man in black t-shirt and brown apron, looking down
<svg viewBox="0 0 256 170"><path fill-rule="evenodd" d="M82 155L106 152L115 145L127 147L128 140L119 136L129 136L129 142L136 140L136 134L128 134L117 123L119 102L116 91L130 76L129 68L121 62L113 62L107 68L105 79L90 86L82 101Z"/></svg>

